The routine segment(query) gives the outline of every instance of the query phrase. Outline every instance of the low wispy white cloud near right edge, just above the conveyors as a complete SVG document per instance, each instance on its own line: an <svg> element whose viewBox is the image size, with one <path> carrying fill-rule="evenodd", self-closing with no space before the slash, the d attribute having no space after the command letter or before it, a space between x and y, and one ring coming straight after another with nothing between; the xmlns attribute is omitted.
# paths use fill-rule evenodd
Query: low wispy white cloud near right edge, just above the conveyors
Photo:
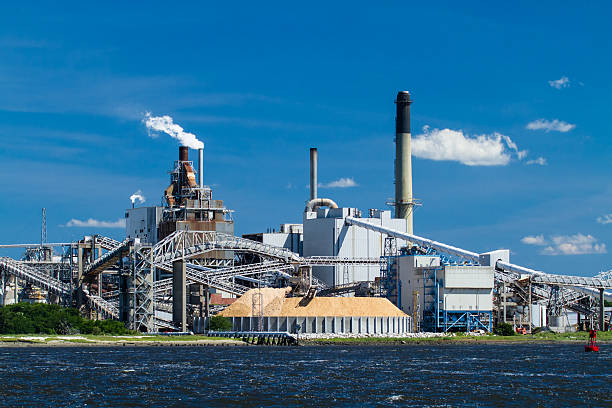
<svg viewBox="0 0 612 408"><path fill-rule="evenodd" d="M521 239L521 242L544 247L541 251L543 255L585 255L608 252L605 243L599 242L592 235L581 233L553 235L549 240L544 238L544 235L527 236Z"/></svg>

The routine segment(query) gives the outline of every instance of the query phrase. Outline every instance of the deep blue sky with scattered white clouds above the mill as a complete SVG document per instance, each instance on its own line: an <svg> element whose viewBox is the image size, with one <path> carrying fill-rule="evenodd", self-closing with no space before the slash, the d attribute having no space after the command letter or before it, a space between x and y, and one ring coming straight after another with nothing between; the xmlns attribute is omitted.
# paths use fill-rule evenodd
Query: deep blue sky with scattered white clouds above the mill
<svg viewBox="0 0 612 408"><path fill-rule="evenodd" d="M0 242L39 240L41 207L49 241L122 238L67 225L117 222L138 190L160 202L178 144L145 112L204 141L239 234L301 221L311 146L322 183L356 184L320 195L383 208L409 90L415 233L611 267L607 3L328 3L0 6Z"/></svg>

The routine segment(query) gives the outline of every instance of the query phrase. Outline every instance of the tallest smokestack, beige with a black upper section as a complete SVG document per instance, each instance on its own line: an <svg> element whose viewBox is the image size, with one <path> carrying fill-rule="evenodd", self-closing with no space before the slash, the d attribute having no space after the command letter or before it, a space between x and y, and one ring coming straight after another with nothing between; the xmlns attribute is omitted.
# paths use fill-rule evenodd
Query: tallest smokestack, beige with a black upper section
<svg viewBox="0 0 612 408"><path fill-rule="evenodd" d="M395 218L408 221L412 234L412 157L410 151L410 93L397 93L395 117Z"/></svg>

